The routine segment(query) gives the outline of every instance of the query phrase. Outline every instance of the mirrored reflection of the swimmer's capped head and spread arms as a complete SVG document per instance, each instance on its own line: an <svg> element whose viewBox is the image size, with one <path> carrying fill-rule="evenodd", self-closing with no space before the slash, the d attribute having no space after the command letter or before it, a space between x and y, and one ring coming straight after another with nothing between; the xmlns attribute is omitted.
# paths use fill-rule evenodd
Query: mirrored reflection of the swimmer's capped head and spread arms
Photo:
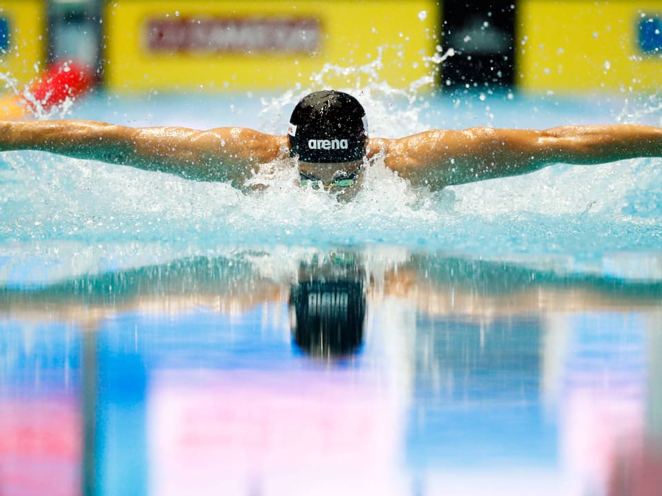
<svg viewBox="0 0 662 496"><path fill-rule="evenodd" d="M660 281L569 275L443 253L403 259L395 252L385 266L366 264L369 257L350 248L319 252L276 278L261 268L287 268L289 256L245 252L81 275L39 289L0 284L0 318L59 319L93 329L123 312L179 315L206 308L227 315L288 301L294 343L328 357L359 350L367 309L391 297L408 301L421 315L485 323L504 315L648 311L659 309L662 295Z"/></svg>

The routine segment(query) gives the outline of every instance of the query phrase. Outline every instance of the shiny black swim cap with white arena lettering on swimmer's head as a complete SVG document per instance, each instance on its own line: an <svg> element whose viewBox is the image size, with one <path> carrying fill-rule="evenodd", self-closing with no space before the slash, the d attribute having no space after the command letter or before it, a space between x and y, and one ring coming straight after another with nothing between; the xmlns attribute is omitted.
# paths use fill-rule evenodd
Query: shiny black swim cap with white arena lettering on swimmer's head
<svg viewBox="0 0 662 496"><path fill-rule="evenodd" d="M290 154L312 163L361 160L368 123L361 103L339 91L303 97L290 117Z"/></svg>

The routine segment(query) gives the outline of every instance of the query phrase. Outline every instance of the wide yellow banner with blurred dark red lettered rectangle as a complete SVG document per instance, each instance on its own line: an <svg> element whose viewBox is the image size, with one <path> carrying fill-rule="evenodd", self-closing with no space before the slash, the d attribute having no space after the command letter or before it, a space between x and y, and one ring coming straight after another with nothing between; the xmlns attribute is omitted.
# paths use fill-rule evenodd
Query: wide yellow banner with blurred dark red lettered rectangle
<svg viewBox="0 0 662 496"><path fill-rule="evenodd" d="M439 44L431 0L174 1L106 4L106 84L114 91L310 86L325 64L365 66L403 88L430 72ZM325 77L367 84L368 72Z"/></svg>

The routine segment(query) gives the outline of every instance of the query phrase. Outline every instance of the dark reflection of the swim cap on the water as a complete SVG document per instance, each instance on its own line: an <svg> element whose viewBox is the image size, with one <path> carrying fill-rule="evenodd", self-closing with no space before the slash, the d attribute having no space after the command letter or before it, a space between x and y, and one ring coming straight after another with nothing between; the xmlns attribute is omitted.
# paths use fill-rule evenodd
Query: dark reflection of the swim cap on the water
<svg viewBox="0 0 662 496"><path fill-rule="evenodd" d="M303 281L290 288L292 336L318 357L355 353L363 342L365 292L360 280Z"/></svg>

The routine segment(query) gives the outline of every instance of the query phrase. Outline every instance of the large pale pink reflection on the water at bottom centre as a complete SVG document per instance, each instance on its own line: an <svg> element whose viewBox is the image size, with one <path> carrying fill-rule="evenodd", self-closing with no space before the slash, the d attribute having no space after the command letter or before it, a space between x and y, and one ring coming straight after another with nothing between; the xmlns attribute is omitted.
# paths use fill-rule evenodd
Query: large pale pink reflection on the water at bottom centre
<svg viewBox="0 0 662 496"><path fill-rule="evenodd" d="M219 371L193 388L159 374L148 406L152 494L401 493L400 408L355 374Z"/></svg>

